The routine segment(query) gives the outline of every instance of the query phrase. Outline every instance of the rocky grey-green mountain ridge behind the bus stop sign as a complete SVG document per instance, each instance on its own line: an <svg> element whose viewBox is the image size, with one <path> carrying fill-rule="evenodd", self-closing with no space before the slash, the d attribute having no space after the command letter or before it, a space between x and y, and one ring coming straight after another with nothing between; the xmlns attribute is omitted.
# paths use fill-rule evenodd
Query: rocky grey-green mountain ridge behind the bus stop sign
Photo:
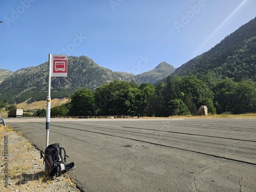
<svg viewBox="0 0 256 192"><path fill-rule="evenodd" d="M101 84L109 83L115 79L123 81L134 80L140 84L142 82L156 83L172 74L175 68L168 63L165 68L159 67L156 73L153 69L142 73L141 76L125 72L114 72L108 68L99 66L93 59L87 56L69 56L67 77L51 77L51 97L64 98L73 94L77 89L86 87L95 89ZM30 102L44 100L48 89L48 61L36 67L19 69L0 83L0 100L20 103L29 99Z"/></svg>

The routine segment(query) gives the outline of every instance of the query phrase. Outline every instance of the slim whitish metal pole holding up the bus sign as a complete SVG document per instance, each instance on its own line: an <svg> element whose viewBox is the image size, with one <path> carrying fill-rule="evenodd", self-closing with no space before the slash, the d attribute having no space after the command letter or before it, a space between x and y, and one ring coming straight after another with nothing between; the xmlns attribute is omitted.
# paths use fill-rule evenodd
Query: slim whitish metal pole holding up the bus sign
<svg viewBox="0 0 256 192"><path fill-rule="evenodd" d="M51 67L52 54L49 54L49 76L48 76L48 96L46 100L46 147L49 145L50 117L51 117Z"/></svg>

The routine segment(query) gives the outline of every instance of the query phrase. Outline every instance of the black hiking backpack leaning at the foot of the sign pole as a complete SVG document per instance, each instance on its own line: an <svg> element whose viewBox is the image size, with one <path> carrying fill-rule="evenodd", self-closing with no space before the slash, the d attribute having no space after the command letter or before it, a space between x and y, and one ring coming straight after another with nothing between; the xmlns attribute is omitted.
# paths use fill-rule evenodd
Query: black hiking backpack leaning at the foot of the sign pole
<svg viewBox="0 0 256 192"><path fill-rule="evenodd" d="M61 150L64 151L64 158L62 158ZM59 143L48 145L45 150L45 156L42 155L41 151L41 158L44 159L46 173L49 174L51 179L55 179L74 167L74 162L66 164L66 157L69 158L69 156L66 155L65 149L59 147Z"/></svg>

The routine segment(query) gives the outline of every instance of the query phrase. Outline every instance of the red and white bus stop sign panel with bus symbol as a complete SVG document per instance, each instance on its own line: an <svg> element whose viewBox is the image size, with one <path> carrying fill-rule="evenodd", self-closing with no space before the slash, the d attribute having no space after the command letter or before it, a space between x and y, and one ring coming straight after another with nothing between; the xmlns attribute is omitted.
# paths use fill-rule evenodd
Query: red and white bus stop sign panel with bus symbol
<svg viewBox="0 0 256 192"><path fill-rule="evenodd" d="M68 56L50 54L51 77L67 77Z"/></svg>

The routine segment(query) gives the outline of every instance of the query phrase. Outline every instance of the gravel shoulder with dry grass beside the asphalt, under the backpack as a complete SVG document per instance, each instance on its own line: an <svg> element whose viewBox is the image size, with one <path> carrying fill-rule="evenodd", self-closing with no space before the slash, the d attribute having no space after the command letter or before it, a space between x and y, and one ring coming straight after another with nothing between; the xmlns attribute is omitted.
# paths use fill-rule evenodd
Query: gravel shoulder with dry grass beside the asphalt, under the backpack
<svg viewBox="0 0 256 192"><path fill-rule="evenodd" d="M0 125L0 191L80 191L71 179L73 170L54 180L45 176L40 152L22 135Z"/></svg>

